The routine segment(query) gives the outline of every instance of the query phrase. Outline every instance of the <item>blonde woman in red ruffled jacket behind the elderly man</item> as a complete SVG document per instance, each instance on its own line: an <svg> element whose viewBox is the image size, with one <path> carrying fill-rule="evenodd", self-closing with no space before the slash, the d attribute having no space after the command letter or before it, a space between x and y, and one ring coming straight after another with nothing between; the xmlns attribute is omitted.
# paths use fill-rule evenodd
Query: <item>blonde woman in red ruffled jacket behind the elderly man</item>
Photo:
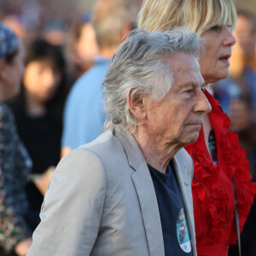
<svg viewBox="0 0 256 256"><path fill-rule="evenodd" d="M184 26L198 33L205 40L205 52L199 60L205 83L230 75L231 49L236 43L232 35L236 7L232 0L145 0L137 26L148 31ZM190 93L193 97L195 91ZM242 230L256 183L251 182L249 162L236 132L229 130L230 119L207 90L205 95L212 112L204 117L198 140L185 147L195 168L192 191L197 252L199 256L226 256L237 239L235 194Z"/></svg>

